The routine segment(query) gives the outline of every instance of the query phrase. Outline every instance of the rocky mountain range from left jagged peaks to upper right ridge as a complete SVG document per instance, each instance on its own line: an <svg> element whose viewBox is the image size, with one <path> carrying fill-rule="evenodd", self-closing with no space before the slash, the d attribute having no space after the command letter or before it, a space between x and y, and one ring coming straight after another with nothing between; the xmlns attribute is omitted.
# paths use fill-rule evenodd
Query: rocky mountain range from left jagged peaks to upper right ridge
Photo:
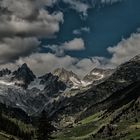
<svg viewBox="0 0 140 140"><path fill-rule="evenodd" d="M45 109L56 119L65 114L74 120L75 114L79 118L90 115L96 104L140 81L140 55L113 70L95 68L83 79L64 68L36 77L27 64L0 73L1 103L31 114Z"/></svg>

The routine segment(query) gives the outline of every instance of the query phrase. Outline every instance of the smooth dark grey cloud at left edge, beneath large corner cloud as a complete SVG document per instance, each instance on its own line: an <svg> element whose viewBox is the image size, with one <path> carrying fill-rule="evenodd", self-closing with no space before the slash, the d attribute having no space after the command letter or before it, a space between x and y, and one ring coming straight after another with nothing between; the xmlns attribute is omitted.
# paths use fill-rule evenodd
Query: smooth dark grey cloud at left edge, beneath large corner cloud
<svg viewBox="0 0 140 140"><path fill-rule="evenodd" d="M0 63L14 61L35 51L40 42L36 38L3 38L0 40Z"/></svg>

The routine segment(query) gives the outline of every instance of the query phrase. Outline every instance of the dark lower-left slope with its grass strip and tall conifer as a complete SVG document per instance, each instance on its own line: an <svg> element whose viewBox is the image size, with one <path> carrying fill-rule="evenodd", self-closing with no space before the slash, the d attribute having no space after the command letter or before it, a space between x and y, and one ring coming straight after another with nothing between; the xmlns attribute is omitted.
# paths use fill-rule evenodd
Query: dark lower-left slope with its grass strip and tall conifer
<svg viewBox="0 0 140 140"><path fill-rule="evenodd" d="M30 118L20 109L0 104L0 140L48 140L53 130L44 111L39 118Z"/></svg>

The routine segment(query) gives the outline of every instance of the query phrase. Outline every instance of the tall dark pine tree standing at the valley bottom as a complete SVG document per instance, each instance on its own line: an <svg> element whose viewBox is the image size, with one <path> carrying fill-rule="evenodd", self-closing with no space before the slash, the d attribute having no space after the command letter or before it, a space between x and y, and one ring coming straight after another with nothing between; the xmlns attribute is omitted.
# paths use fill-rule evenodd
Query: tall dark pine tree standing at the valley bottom
<svg viewBox="0 0 140 140"><path fill-rule="evenodd" d="M54 127L52 126L51 121L48 119L46 112L42 111L38 120L37 140L51 139L51 133L53 130Z"/></svg>

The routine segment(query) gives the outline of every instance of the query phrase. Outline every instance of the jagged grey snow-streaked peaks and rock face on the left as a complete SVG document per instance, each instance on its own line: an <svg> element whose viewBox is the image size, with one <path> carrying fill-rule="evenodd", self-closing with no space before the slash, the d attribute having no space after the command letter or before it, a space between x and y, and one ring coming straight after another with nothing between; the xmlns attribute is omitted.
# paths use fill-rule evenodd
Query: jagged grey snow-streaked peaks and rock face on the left
<svg viewBox="0 0 140 140"><path fill-rule="evenodd" d="M30 115L38 114L43 109L53 114L61 108L59 106L54 109L56 104L89 89L95 81L91 79L90 84L87 84L75 73L64 68L37 77L27 64L23 64L14 72L2 69L0 75L0 102L21 108Z"/></svg>

